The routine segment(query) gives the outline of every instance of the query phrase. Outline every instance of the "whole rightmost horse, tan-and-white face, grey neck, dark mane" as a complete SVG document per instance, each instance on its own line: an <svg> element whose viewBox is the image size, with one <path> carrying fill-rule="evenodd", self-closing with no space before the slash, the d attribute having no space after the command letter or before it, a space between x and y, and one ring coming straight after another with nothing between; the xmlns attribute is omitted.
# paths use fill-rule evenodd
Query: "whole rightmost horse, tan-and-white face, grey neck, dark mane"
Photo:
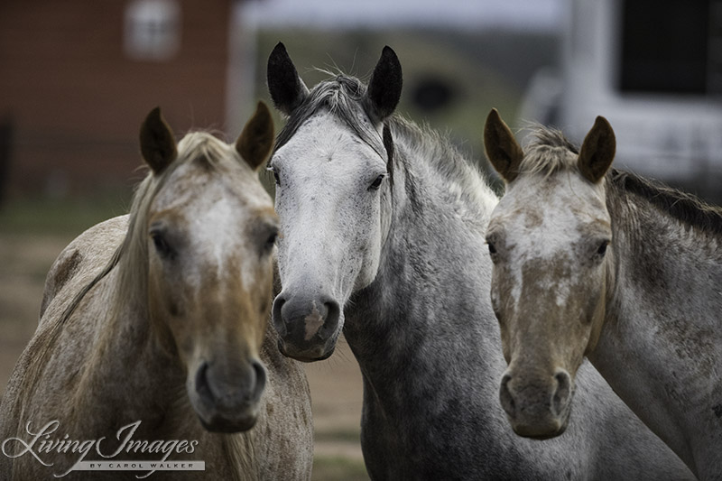
<svg viewBox="0 0 722 481"><path fill-rule="evenodd" d="M603 117L580 149L541 126L522 149L492 111L485 143L507 183L486 239L514 430L559 434L588 356L700 479L722 479L722 209L610 171Z"/></svg>

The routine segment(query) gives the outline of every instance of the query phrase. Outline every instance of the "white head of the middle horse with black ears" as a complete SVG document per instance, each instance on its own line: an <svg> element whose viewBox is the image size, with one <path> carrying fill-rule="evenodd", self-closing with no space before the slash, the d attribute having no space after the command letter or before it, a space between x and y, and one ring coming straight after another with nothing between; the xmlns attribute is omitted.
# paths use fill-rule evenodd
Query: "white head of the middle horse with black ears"
<svg viewBox="0 0 722 481"><path fill-rule="evenodd" d="M309 90L279 43L267 75L289 116L269 162L282 230L273 323L284 354L314 361L333 353L344 306L380 263L393 180L384 120L401 96L401 65L385 47L368 88L339 75Z"/></svg>

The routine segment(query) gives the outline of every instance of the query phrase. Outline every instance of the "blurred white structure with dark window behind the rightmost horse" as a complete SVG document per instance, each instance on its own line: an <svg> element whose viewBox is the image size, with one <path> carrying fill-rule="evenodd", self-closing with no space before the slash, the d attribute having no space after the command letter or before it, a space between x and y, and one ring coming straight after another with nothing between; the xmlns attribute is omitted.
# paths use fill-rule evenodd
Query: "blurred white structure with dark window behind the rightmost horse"
<svg viewBox="0 0 722 481"><path fill-rule="evenodd" d="M722 201L722 0L568 1L520 116L577 142L606 116L616 165Z"/></svg>

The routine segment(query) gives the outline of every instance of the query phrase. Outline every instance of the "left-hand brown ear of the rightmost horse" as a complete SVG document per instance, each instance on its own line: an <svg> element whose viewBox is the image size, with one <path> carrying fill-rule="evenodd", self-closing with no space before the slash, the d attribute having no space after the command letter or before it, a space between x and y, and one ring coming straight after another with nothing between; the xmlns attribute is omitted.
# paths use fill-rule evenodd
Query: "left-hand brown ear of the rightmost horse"
<svg viewBox="0 0 722 481"><path fill-rule="evenodd" d="M504 124L504 120L495 108L492 108L486 117L484 150L489 162L502 179L507 183L516 179L524 153L511 129Z"/></svg>

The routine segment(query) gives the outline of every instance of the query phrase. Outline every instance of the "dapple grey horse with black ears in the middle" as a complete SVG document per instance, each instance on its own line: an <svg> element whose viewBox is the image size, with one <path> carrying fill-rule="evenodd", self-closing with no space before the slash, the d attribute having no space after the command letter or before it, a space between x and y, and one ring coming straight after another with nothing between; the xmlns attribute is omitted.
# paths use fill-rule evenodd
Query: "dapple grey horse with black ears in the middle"
<svg viewBox="0 0 722 481"><path fill-rule="evenodd" d="M484 295L497 199L449 143L390 116L394 59L384 49L367 90L346 76L308 90L282 45L268 72L290 116L269 163L282 223L279 346L326 358L343 329L363 375L370 476L692 478L589 366L584 415L563 437L541 444L504 426L494 388L504 358Z"/></svg>

